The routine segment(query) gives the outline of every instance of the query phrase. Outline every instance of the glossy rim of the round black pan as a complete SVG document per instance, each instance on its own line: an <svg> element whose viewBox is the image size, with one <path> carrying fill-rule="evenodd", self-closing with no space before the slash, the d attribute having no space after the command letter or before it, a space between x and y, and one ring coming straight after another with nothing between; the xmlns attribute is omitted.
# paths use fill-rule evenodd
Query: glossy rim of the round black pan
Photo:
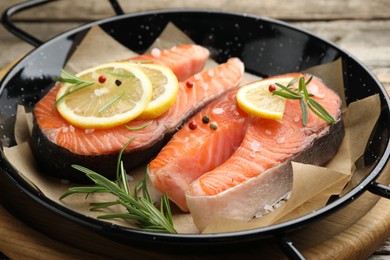
<svg viewBox="0 0 390 260"><path fill-rule="evenodd" d="M230 16L240 16L240 17L246 17L250 19L256 19L256 20L263 20L268 23L274 23L277 25L281 25L287 29L294 30L300 33L303 33L305 35L308 35L310 37L315 38L316 40L319 40L336 50L338 50L340 53L345 54L350 59L354 60L356 63L358 63L359 66L361 66L368 75L375 81L375 83L378 85L381 94L383 95L386 105L390 103L389 96L387 92L385 91L382 83L376 78L376 76L371 72L370 69L368 69L362 62L360 62L358 59L356 59L353 55L349 54L347 51L342 50L340 47L336 46L334 43L329 42L327 40L324 40L306 30L297 28L289 23L268 18L268 17L262 17L262 16L256 16L256 15L250 15L250 14L242 14L242 13L236 13L236 12L226 12L226 11L218 11L218 10L202 10L202 9L166 9L166 10L159 10L159 11L143 11L143 12L137 12L137 13L131 13L131 14L124 14L114 17L105 18L102 20L90 22L84 25L81 25L77 28L73 28L71 30L68 30L64 33L61 33L60 35L57 35L50 40L46 41L42 45L38 46L37 48L34 48L32 51L26 54L26 56L21 59L17 64L15 64L4 76L4 78L1 80L1 88L5 87L7 85L7 80L12 77L12 73L14 71L17 71L20 67L23 67L23 63L28 60L28 58L31 56L31 54L35 52L39 52L41 49L45 48L48 44L52 44L53 41L57 40L58 38L65 38L70 35L74 35L80 31L83 31L85 29L90 28L93 25L101 25L105 23L110 23L113 21L117 21L120 19L126 19L126 18L132 18L132 17L139 17L139 16L147 16L147 15L159 15L159 14L169 14L169 13L199 13L199 14L220 14L220 15L230 15ZM77 213L73 210L70 210L60 204L58 204L55 201L52 201L51 199L47 198L46 196L42 195L38 191L36 191L33 187L31 187L26 181L24 181L20 175L17 173L17 171L9 164L8 161L4 160L4 158L0 159L1 166L3 170L8 174L10 178L12 178L15 181L16 186L21 189L23 192L25 192L28 196L30 196L32 199L36 200L39 204L43 205L44 207L53 210L57 214L59 214L62 217L66 217L67 219L70 219L78 224L81 224L83 226L87 226L93 229L104 229L105 232L111 233L111 232L119 232L118 235L129 235L129 234L136 234L138 236L142 236L145 238L151 237L153 241L155 242L161 242L162 240L170 240L170 239L176 239L179 238L180 242L201 242L202 240L205 240L204 242L218 242L220 239L224 238L250 238L250 237L256 237L257 235L270 235L273 236L275 234L283 233L286 231L294 230L295 228L299 228L303 226L304 224L308 222L313 222L316 219L325 217L328 214L331 214L332 212L338 210L339 208L346 206L349 202L356 199L358 196L360 196L364 191L368 189L368 185L375 181L376 178L379 177L381 171L386 166L387 160L390 156L390 144L389 142L386 144L386 148L383 152L382 157L378 162L376 162L375 167L372 169L372 171L362 180L362 182L354 187L352 190L350 190L347 194L345 194L343 197L337 199L336 201L326 205L325 207L317 210L316 212L306 214L304 216L301 216L299 218L286 221L284 223L275 224L263 228L253 229L253 230L244 230L244 231L234 231L234 232L225 232L225 233L218 233L218 234L165 234L165 233L153 233L153 232L145 232L137 229L131 229L126 228L119 225L113 225L111 223L107 223L104 221L100 221L91 217L87 217L83 214ZM186 241L183 241L183 239L186 239ZM168 241L169 242L169 241ZM177 241L176 241L177 242ZM226 242L226 241L225 241ZM224 243L224 242L222 242Z"/></svg>

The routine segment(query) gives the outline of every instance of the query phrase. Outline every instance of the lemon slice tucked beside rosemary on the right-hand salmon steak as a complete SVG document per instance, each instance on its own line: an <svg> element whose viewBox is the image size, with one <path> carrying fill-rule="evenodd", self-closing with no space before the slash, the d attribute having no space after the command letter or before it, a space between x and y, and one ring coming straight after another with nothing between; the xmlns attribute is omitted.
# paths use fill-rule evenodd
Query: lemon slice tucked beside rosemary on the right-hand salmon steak
<svg viewBox="0 0 390 260"><path fill-rule="evenodd" d="M237 91L238 106L246 113L268 119L280 120L283 118L286 99L272 95L270 85L288 84L293 78L274 78L260 80L245 86Z"/></svg>

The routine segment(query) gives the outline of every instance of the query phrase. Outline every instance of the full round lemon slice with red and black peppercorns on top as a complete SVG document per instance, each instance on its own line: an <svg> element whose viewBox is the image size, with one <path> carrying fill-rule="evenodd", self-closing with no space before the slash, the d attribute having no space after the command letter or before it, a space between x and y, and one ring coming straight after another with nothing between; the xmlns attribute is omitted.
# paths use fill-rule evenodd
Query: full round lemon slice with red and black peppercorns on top
<svg viewBox="0 0 390 260"><path fill-rule="evenodd" d="M128 63L102 64L76 75L84 83L65 83L57 109L72 125L111 128L138 117L152 98L146 74Z"/></svg>

